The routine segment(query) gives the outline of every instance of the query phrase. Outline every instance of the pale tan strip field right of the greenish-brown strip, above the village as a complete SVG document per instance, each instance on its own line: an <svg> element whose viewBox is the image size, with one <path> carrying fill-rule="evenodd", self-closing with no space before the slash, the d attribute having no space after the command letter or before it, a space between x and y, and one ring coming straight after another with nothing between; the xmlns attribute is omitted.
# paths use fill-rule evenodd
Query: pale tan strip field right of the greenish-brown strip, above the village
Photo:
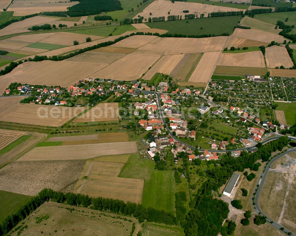
<svg viewBox="0 0 296 236"><path fill-rule="evenodd" d="M189 78L189 82L209 82L221 52L207 52L202 55L199 63Z"/></svg>

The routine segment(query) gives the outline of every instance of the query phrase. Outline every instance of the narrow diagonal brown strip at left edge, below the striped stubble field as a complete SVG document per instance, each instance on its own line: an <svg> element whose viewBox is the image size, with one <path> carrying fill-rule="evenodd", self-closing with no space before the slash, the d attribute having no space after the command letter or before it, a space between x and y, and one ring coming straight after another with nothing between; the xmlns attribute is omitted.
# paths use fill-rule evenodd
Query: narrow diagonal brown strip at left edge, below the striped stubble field
<svg viewBox="0 0 296 236"><path fill-rule="evenodd" d="M13 161L17 158L17 155L24 152L26 149L30 148L32 145L39 142L41 139L46 137L46 134L38 134L34 133L30 138L23 141L21 144L17 145L17 147L11 149L9 152L1 155L0 157L0 165L3 165L6 162Z"/></svg>

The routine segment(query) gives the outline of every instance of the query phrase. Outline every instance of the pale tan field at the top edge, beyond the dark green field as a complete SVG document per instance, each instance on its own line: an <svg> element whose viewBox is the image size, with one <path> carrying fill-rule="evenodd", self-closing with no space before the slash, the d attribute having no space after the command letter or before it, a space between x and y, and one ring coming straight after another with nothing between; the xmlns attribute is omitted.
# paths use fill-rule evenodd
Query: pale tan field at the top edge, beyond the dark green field
<svg viewBox="0 0 296 236"><path fill-rule="evenodd" d="M184 13L184 10L189 10L189 13ZM244 11L243 9L237 9L232 7L225 6L213 6L208 4L200 4L200 3L191 3L191 2L179 2L176 1L172 3L171 1L158 0L152 2L149 6L147 6L143 12L139 13L140 16L148 19L149 17L162 17L165 16L165 20L167 20L168 12L170 15L181 15L182 18L185 18L185 14L205 14L207 16L208 13L211 12L238 12ZM152 13L150 16L149 13ZM137 14L138 16L138 14ZM137 17L135 17L137 18Z"/></svg>

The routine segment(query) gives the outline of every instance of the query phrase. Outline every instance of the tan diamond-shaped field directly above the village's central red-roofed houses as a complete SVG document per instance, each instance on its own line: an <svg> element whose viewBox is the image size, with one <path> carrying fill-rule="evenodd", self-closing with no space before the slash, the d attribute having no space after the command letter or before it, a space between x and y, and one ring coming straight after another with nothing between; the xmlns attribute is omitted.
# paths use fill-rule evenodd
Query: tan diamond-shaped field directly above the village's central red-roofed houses
<svg viewBox="0 0 296 236"><path fill-rule="evenodd" d="M149 66L152 66L159 58L160 56L131 53L90 76L126 81L136 80L141 78Z"/></svg>

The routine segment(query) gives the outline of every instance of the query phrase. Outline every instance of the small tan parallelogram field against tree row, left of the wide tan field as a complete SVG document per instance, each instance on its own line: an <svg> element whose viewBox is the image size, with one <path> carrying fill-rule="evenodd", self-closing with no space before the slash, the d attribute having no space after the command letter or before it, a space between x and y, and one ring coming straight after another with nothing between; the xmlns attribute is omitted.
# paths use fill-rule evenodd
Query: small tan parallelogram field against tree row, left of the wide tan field
<svg viewBox="0 0 296 236"><path fill-rule="evenodd" d="M113 44L112 47L140 48L141 46L144 46L156 38L157 36L153 35L134 35Z"/></svg>

